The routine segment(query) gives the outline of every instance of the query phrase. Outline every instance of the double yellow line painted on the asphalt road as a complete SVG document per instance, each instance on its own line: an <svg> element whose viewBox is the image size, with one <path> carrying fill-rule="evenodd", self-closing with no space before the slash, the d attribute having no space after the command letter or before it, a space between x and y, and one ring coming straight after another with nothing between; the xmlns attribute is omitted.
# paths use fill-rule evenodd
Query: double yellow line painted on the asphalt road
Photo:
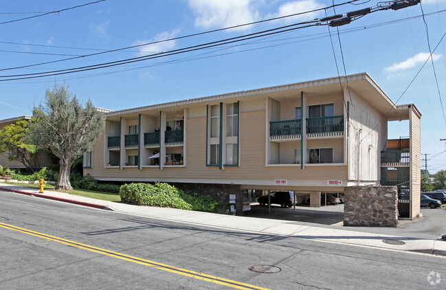
<svg viewBox="0 0 446 290"><path fill-rule="evenodd" d="M3 227L3 228L8 229L8 230L14 230L16 232L21 232L21 233L24 233L24 234L30 234L30 235L36 236L38 238L45 238L48 241L54 241L54 242L61 243L61 244L64 244L64 245L69 245L71 247L77 247L79 249L86 249L87 251L90 251L90 252L96 252L98 254L111 256L113 258L126 260L126 261L129 261L129 262L132 262L132 263L137 263L137 264L148 266L148 267L152 267L152 268L155 268L155 269L168 271L170 273L175 273L175 274L179 274L179 275L182 275L182 276L187 276L187 277L190 277L190 278L195 278L195 279L199 279L199 280L203 280L203 281L208 281L208 282L216 283L216 284L219 284L219 285L225 285L227 287L232 287L232 288L235 288L235 289L245 289L245 290L247 290L247 289L262 289L262 290L268 290L268 289L263 288L263 287L249 285L249 284L246 284L246 283L243 283L243 282L237 282L237 281L234 281L234 280L229 280L229 279L225 279L225 278L219 278L219 277L216 277L216 276L210 276L210 275L199 273L199 272L196 272L196 271L190 271L188 269L181 269L181 268L178 268L178 267L157 263L157 262L152 261L152 260L146 260L146 259L143 259L143 258L137 258L135 256L129 256L129 255L126 255L126 254L113 252L113 251L110 251L108 249L102 249L100 247L93 247L91 245L85 245L85 244L82 244L82 243L77 243L77 242L74 242L74 241L66 240L65 238L59 238L57 236L50 236L49 234L43 234L41 232L34 232L32 230L27 230L27 229L24 229L22 227L16 227L14 225L8 225L7 223L0 223L0 227Z"/></svg>

